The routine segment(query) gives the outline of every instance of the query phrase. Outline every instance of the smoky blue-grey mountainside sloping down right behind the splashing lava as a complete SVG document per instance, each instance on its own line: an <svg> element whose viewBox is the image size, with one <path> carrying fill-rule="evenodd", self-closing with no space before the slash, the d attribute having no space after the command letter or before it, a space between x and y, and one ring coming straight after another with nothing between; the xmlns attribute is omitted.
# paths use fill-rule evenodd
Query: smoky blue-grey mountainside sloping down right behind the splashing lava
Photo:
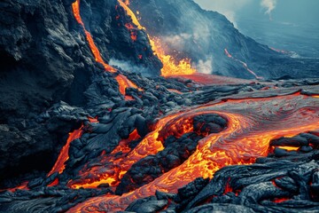
<svg viewBox="0 0 319 213"><path fill-rule="evenodd" d="M191 0L131 0L130 7L168 53L191 59L201 72L248 79L317 76L318 59L292 59L273 51Z"/></svg>

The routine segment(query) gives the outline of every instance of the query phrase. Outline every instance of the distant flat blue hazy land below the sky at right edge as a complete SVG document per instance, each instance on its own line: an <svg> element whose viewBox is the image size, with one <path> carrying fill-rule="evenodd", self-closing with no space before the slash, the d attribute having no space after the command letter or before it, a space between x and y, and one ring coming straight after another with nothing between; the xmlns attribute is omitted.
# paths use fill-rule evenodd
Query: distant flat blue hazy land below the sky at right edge
<svg viewBox="0 0 319 213"><path fill-rule="evenodd" d="M241 33L251 36L259 43L290 52L293 57L319 59L319 26L294 24L277 20L258 20L238 17Z"/></svg>

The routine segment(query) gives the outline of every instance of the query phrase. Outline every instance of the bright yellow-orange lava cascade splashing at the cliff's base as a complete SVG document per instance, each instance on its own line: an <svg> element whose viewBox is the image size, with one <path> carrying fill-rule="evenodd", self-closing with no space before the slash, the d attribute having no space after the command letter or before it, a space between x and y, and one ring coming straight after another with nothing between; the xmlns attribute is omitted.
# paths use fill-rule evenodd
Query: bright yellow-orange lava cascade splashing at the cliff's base
<svg viewBox="0 0 319 213"><path fill-rule="evenodd" d="M127 12L128 16L131 17L133 23L136 25L138 29L145 29L137 20L136 15L132 12L129 7L129 1L127 0L126 3L123 3L121 0L118 0L124 10ZM128 30L131 30L133 27L130 24L127 24L126 27ZM131 35L132 37L132 35ZM163 64L161 71L161 75L167 77L170 75L191 75L196 73L196 69L191 67L191 59L182 59L176 62L176 59L171 56L165 54L164 49L158 38L149 36L149 40L152 46L152 51L154 51L155 55L157 55L160 61ZM136 40L136 35L133 35L132 39Z"/></svg>

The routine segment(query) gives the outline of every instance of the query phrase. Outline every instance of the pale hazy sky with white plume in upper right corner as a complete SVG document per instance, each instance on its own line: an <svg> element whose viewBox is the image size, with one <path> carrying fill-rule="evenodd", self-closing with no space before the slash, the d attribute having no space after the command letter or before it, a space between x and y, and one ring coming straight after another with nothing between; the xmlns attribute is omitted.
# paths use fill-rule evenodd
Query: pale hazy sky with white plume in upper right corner
<svg viewBox="0 0 319 213"><path fill-rule="evenodd" d="M319 25L319 0L194 0L202 8L238 18L269 19Z"/></svg>

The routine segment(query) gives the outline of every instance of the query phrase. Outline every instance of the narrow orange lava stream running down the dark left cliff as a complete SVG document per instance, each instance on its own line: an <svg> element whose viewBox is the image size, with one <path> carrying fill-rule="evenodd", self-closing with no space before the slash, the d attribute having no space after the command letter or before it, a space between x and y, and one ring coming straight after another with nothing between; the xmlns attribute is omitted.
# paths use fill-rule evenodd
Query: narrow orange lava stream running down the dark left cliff
<svg viewBox="0 0 319 213"><path fill-rule="evenodd" d="M82 21L82 18L81 18L81 14L80 14L80 0L76 0L73 4L72 4L72 9L73 9L73 12L74 12L74 17L75 17L75 20L82 25L82 28L84 30L84 33L85 33L85 36L88 40L88 43L89 43L89 48L90 50L92 51L92 54L94 55L96 61L98 63L100 63L101 65L103 65L103 67L105 67L105 70L107 72L110 72L110 73L116 73L117 70L114 68L114 67L111 67L110 65L106 64L104 59L102 59L102 56L101 56L101 53L98 51L98 48L96 46L96 44L94 43L94 40L93 40L93 37L91 36L91 34L89 33L88 30L86 30L85 26L84 26L84 23ZM135 83L132 83L131 81L128 80L128 78L125 76L125 75L117 75L115 77L115 80L119 83L119 90L121 92L121 94L123 96L125 96L125 90L126 88L130 88L130 87L133 87L133 88L136 88L138 89L138 87L136 86ZM141 90L141 89L140 89ZM128 97L125 97L126 99L129 99Z"/></svg>

